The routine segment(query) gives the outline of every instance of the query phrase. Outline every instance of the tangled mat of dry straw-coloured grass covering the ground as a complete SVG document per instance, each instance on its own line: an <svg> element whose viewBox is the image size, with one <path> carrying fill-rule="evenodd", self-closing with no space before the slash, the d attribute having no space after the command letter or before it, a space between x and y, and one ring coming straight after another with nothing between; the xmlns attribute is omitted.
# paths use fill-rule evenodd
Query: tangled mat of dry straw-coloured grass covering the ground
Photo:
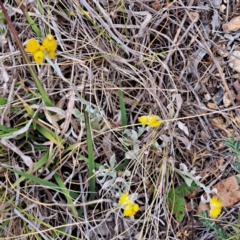
<svg viewBox="0 0 240 240"><path fill-rule="evenodd" d="M181 222L167 205L168 191L183 183L176 173L181 163L190 170L195 167L206 186L235 172L234 158L223 142L232 133L239 135L238 105L232 99L232 107L221 103L212 110L204 97L213 97L219 89L229 92L233 81L231 70L217 54L223 34L207 31L212 27L211 1L39 1L42 14L37 2L23 4L42 37L47 29L56 37L55 63L65 79L47 62L35 67L55 107L47 108L3 22L0 124L23 128L31 119L26 104L38 118L27 131L0 145L0 239L216 239L216 233L197 217L202 189L185 198L192 209ZM35 37L18 6L6 1L5 7L21 41ZM228 11L234 14L231 7ZM119 90L124 94L125 113ZM87 137L84 109L91 137ZM126 144L131 133L124 129L138 131L137 118L149 114L160 116L164 124ZM34 123L51 130L63 143L48 139ZM1 129L1 137L9 132ZM98 175L95 199L91 199L89 138L95 163L107 168L115 155L118 171L109 171L118 176L119 189L123 191L126 184L130 193L138 193L140 211L134 218L123 217L116 186L104 186ZM161 148L154 147L156 143ZM138 147L134 154L133 145ZM128 160L126 152L132 154ZM65 187L53 190L6 169L27 172L23 155L35 166L43 163L35 171L30 169L29 176L57 185L60 176ZM221 167L220 159L224 160ZM106 181L110 179L108 175ZM237 221L233 210L237 208L224 209L221 215L219 223L226 231L232 228L225 222Z"/></svg>

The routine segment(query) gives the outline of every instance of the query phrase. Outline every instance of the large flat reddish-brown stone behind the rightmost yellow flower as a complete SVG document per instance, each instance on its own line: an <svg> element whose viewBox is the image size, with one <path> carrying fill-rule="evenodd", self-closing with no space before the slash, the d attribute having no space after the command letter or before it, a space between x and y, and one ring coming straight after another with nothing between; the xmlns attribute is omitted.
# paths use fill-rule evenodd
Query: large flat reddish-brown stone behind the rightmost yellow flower
<svg viewBox="0 0 240 240"><path fill-rule="evenodd" d="M223 207L230 207L240 201L240 189L236 181L236 176L240 178L240 174L231 176L213 186L218 191L217 197L222 202ZM200 202L198 213L209 209L209 204Z"/></svg>

